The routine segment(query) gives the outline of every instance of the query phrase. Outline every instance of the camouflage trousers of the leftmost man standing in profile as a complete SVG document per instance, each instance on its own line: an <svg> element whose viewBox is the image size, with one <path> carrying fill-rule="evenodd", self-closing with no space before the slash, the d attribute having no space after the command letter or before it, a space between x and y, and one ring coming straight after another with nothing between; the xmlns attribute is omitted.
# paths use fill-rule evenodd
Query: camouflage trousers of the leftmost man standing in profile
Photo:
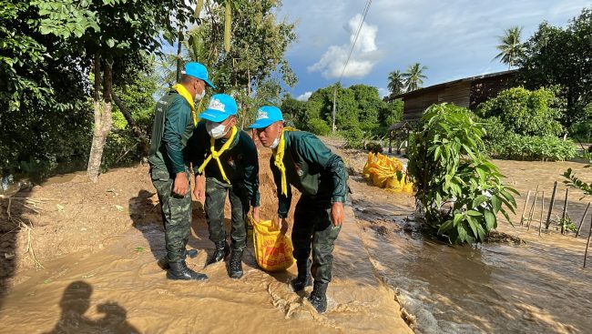
<svg viewBox="0 0 592 334"><path fill-rule="evenodd" d="M189 177L189 170L187 171ZM162 210L162 223L165 227L165 243L168 262L185 260L186 246L191 226L191 189L181 197L173 193L174 178L166 169L151 168L152 185L157 189L158 202ZM191 177L189 177L191 179Z"/></svg>

